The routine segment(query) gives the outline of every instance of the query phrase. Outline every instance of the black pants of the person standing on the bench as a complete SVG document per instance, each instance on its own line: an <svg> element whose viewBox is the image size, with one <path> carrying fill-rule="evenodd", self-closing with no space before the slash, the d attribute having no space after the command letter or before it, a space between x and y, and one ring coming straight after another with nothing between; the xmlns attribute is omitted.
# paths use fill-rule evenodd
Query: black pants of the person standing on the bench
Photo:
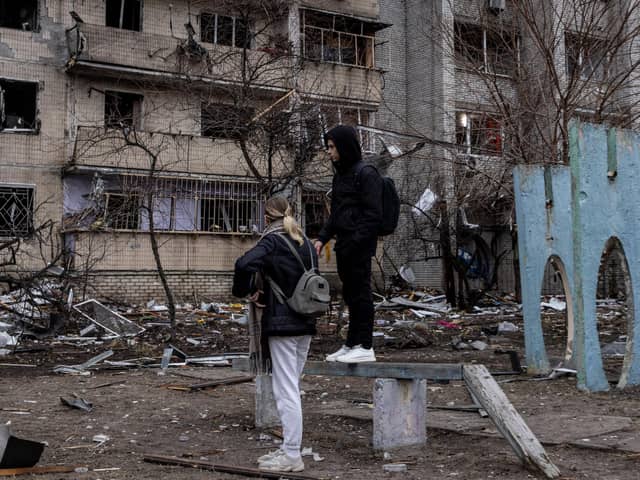
<svg viewBox="0 0 640 480"><path fill-rule="evenodd" d="M349 307L347 347L371 348L373 337L373 295L371 294L371 256L336 253L342 296Z"/></svg>

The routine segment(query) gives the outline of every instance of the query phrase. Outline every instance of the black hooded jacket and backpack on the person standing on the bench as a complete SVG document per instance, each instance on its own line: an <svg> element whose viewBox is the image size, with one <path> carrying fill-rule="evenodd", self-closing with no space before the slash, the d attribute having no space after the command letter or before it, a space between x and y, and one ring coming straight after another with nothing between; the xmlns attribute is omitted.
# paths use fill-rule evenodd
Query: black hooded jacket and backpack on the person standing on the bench
<svg viewBox="0 0 640 480"><path fill-rule="evenodd" d="M382 177L374 168L364 167L356 131L339 125L325 135L333 140L340 160L331 190L331 214L318 239L326 243L336 237L335 250L345 256L375 255L382 218Z"/></svg>

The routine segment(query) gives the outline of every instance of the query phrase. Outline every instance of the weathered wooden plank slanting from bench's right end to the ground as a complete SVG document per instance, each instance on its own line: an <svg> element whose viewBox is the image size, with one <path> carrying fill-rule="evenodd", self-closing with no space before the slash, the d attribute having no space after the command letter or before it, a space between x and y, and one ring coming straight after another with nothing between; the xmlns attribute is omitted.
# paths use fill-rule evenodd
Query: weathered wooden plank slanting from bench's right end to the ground
<svg viewBox="0 0 640 480"><path fill-rule="evenodd" d="M486 367L465 365L463 373L469 392L486 410L525 465L538 468L547 478L558 478L560 471Z"/></svg>

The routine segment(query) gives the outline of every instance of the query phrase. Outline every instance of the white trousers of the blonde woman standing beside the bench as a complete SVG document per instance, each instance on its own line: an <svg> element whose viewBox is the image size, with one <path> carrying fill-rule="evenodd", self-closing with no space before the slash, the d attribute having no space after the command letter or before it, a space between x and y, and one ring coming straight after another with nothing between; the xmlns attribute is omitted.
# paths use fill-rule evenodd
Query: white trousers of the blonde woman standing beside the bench
<svg viewBox="0 0 640 480"><path fill-rule="evenodd" d="M273 396L282 422L282 450L293 458L300 457L302 445L302 402L300 375L307 361L311 335L269 337Z"/></svg>

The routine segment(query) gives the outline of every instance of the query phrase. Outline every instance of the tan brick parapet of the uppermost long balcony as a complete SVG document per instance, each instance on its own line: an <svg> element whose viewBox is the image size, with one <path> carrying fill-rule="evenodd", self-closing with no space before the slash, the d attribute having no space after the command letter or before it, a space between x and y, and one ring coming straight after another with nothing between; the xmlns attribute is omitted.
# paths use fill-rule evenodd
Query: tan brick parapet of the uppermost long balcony
<svg viewBox="0 0 640 480"><path fill-rule="evenodd" d="M199 56L185 50L185 43L186 39L164 35L77 24L67 31L67 71L136 81L241 85L240 50L204 44L211 48ZM298 72L286 57L274 59L260 50L251 50L250 55L254 69L251 86L258 90L286 93L294 75L299 74L302 94L375 104L381 101L382 74L377 70L305 61Z"/></svg>

